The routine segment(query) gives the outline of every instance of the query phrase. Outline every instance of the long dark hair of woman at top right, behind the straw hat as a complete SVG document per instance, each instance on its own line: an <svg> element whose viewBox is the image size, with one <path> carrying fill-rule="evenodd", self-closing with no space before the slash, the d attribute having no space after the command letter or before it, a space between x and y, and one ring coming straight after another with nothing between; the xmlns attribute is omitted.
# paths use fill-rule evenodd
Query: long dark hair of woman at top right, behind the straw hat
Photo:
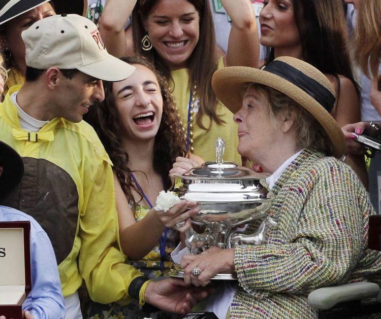
<svg viewBox="0 0 381 319"><path fill-rule="evenodd" d="M294 16L302 43L303 60L322 73L355 80L348 50L348 32L341 0L293 0ZM266 48L266 64L274 60L274 49Z"/></svg>

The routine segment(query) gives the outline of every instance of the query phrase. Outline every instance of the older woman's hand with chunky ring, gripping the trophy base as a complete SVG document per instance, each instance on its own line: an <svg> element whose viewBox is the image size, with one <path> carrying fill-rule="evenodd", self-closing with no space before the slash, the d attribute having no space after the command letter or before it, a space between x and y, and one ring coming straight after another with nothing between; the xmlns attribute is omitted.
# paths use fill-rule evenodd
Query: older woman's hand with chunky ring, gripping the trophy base
<svg viewBox="0 0 381 319"><path fill-rule="evenodd" d="M180 263L184 281L205 287L218 273L234 273L234 251L211 247L200 255L184 255Z"/></svg>

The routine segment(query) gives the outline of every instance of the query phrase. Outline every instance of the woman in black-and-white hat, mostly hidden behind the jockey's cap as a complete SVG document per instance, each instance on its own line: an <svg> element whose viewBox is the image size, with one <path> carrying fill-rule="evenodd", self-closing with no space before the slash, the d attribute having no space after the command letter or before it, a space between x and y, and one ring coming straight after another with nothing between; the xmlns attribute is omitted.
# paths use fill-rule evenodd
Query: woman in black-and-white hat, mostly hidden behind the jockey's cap
<svg viewBox="0 0 381 319"><path fill-rule="evenodd" d="M85 16L87 0L0 0L0 49L9 68L4 95L13 85L25 82L25 46L21 32L34 22L56 13Z"/></svg>

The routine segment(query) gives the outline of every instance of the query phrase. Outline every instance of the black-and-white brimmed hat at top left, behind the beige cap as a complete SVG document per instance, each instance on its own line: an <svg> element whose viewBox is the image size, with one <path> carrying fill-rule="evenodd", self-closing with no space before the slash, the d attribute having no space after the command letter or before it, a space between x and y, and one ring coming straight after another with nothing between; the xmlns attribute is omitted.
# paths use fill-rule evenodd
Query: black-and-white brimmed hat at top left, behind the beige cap
<svg viewBox="0 0 381 319"><path fill-rule="evenodd" d="M0 25L28 12L50 0L0 0ZM86 16L87 0L53 0L53 7L57 14L75 13Z"/></svg>

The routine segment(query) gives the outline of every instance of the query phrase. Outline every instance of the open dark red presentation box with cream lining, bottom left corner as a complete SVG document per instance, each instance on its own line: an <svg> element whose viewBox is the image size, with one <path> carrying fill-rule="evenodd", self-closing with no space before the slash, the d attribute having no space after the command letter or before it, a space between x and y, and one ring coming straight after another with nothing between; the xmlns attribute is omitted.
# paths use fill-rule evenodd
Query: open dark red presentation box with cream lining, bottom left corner
<svg viewBox="0 0 381 319"><path fill-rule="evenodd" d="M31 290L30 222L0 222L0 315L22 319Z"/></svg>

